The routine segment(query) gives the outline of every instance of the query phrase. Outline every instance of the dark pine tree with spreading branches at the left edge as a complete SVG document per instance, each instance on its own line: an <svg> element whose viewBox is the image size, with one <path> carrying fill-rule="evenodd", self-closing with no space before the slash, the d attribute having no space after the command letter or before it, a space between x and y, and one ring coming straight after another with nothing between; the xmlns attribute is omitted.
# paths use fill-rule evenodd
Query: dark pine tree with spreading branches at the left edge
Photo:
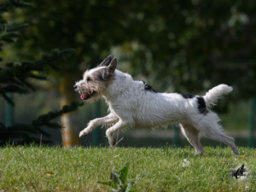
<svg viewBox="0 0 256 192"><path fill-rule="evenodd" d="M32 7L30 3L21 1L6 0L0 3L0 12L9 12L15 8ZM15 43L16 38L20 38L20 29L27 27L27 24L9 24L9 19L5 20L3 15L0 15L0 50L3 52L3 46ZM12 61L6 63L4 68L0 68L0 96L9 104L15 106L9 93L27 94L31 90L35 91L35 86L31 83L31 79L47 80L43 75L47 67L59 69L56 64L58 62L67 61L69 55L74 53L74 49L59 49L51 50L50 54L44 54L39 61ZM3 58L0 58L3 62ZM46 142L38 141L37 137L32 135L40 133L44 136L49 134L44 131L44 127L53 129L61 129L62 125L52 122L53 119L61 116L64 113L69 113L76 110L82 104L80 102L72 102L70 105L65 105L61 110L49 112L40 115L38 119L32 121L31 124L14 124L6 126L0 123L0 144L10 143L31 143L31 142Z"/></svg>

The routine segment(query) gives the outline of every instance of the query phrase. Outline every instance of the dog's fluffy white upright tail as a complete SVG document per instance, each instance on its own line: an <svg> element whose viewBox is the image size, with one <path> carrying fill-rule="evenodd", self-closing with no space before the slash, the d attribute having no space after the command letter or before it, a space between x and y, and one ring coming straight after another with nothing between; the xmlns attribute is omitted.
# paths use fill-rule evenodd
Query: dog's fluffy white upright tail
<svg viewBox="0 0 256 192"><path fill-rule="evenodd" d="M212 90L208 90L207 94L203 96L207 104L207 108L212 108L216 105L218 99L229 94L232 90L233 88L227 84L219 84L218 86L213 87Z"/></svg>

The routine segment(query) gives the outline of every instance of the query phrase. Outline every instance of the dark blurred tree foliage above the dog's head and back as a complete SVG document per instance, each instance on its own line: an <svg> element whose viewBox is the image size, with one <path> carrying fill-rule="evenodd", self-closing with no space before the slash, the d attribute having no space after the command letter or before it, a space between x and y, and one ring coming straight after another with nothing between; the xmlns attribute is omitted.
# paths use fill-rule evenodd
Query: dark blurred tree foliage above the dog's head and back
<svg viewBox="0 0 256 192"><path fill-rule="evenodd" d="M27 31L27 45L49 49L43 35L55 46L76 44L81 66L65 66L73 76L113 49L126 71L143 75L157 90L169 85L198 94L225 83L235 88L232 99L247 98L256 94L255 8L241 0L38 0L25 13L38 24Z"/></svg>

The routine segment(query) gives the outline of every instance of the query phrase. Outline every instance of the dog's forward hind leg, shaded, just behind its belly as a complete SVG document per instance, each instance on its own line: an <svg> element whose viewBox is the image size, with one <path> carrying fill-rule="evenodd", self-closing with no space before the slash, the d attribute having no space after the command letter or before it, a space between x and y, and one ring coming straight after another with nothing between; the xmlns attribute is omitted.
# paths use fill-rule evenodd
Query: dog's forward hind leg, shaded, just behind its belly
<svg viewBox="0 0 256 192"><path fill-rule="evenodd" d="M188 139L189 143L195 148L195 154L204 153L204 148L199 141L199 131L191 125L180 124L183 135Z"/></svg>

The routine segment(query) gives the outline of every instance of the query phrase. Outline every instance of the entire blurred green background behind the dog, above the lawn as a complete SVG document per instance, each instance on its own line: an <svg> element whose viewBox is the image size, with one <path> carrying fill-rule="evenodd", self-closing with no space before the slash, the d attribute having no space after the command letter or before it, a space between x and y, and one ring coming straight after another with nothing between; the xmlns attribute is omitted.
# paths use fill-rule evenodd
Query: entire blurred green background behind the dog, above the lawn
<svg viewBox="0 0 256 192"><path fill-rule="evenodd" d="M86 69L113 55L119 58L119 70L146 81L157 91L204 95L217 84L233 86L231 94L213 110L219 113L224 130L240 145L247 145L247 138L252 135L250 122L255 122L255 117L250 117L249 102L256 96L253 1L37 0L31 3L32 9L16 9L14 14L6 15L13 17L13 22L29 24L22 38L3 53L7 60L35 60L45 50L55 48L72 47L76 54L73 61L61 64L58 73L45 72L51 74L48 83L33 82L44 91L15 96L15 121L31 121L41 113L60 108L63 97L79 99L73 91L74 82L81 79ZM2 101L0 108L5 108ZM93 119L93 108L94 104L85 103L75 113L78 130ZM101 116L108 112L103 102L100 111ZM4 118L5 111L1 110L1 122ZM162 131L165 130L125 131L119 135L119 138L124 136L119 145L173 144L172 125L166 133ZM100 134L102 145L106 145L105 129ZM53 144L61 143L60 131L52 131L51 140ZM88 146L91 137L81 141ZM180 140L179 144L187 143Z"/></svg>

